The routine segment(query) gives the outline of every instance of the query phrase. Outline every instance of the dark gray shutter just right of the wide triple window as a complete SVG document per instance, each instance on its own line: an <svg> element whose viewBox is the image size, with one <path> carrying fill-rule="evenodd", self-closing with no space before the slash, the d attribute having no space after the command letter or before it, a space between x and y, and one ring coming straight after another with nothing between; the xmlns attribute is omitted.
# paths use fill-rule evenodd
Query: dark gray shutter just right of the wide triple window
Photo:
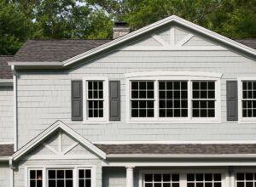
<svg viewBox="0 0 256 187"><path fill-rule="evenodd" d="M238 120L237 81L227 81L227 121Z"/></svg>

